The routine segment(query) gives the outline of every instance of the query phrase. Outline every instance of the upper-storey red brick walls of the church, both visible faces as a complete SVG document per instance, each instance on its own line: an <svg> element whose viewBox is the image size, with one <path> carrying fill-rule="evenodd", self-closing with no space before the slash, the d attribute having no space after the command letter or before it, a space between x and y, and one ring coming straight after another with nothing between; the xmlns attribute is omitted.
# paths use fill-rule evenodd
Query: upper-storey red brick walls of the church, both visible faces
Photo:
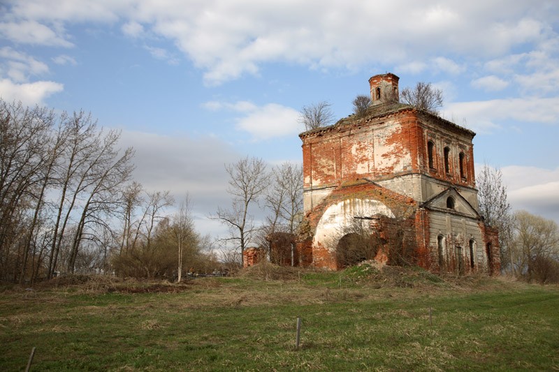
<svg viewBox="0 0 559 372"><path fill-rule="evenodd" d="M384 149L374 143L375 138L378 142L381 137ZM380 179L418 172L475 187L473 137L474 133L467 129L412 108L371 119L347 119L301 135L304 187L336 186L357 178ZM428 167L429 140L435 143L435 170ZM451 149L449 174L444 170L445 146ZM379 155L379 151L386 149L386 153ZM460 177L460 152L465 155L465 179ZM389 158L393 159L392 166L383 163ZM405 163L405 167L400 168L398 161Z"/></svg>

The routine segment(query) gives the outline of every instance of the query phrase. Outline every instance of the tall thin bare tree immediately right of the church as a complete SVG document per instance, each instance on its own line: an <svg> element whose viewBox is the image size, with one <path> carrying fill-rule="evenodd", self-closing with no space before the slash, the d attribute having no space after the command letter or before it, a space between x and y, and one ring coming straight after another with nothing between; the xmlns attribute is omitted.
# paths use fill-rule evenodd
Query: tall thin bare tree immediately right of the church
<svg viewBox="0 0 559 372"><path fill-rule="evenodd" d="M477 175L476 184L480 214L488 225L499 230L502 268L508 268L514 274L515 265L509 248L514 232L514 215L507 200L507 186L502 181L501 170L484 165Z"/></svg>

